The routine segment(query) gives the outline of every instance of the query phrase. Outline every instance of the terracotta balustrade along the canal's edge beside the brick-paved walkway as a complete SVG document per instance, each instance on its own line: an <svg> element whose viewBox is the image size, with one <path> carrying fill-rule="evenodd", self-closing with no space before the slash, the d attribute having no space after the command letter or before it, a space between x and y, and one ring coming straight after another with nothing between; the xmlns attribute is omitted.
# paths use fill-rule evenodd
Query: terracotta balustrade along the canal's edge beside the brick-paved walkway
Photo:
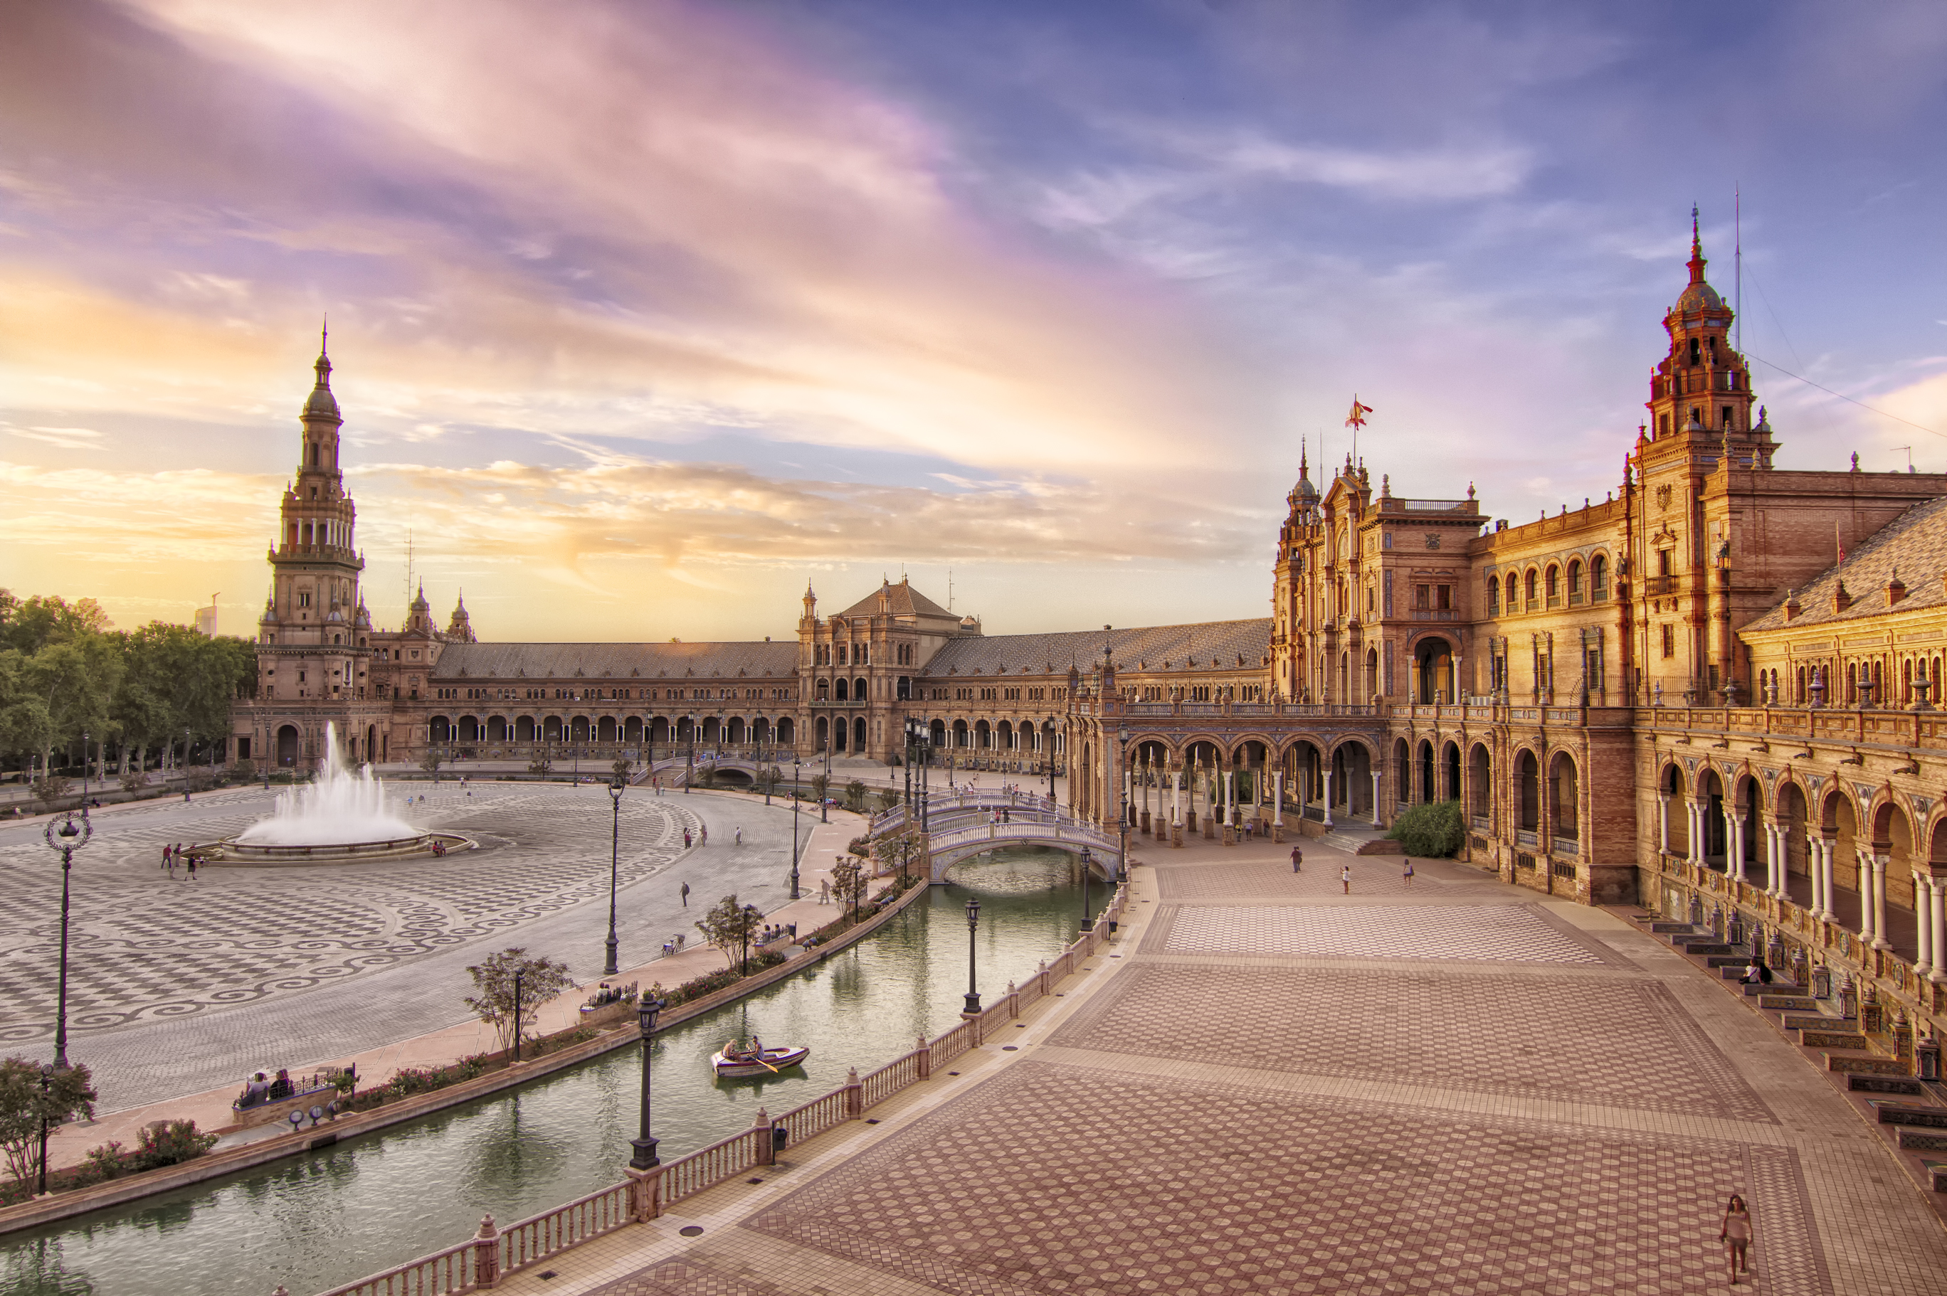
<svg viewBox="0 0 1947 1296"><path fill-rule="evenodd" d="M843 1086L779 1117L759 1113L759 1121L750 1129L648 1171L641 1179L641 1189L637 1181L617 1183L510 1224L506 1230L496 1230L493 1216L489 1216L481 1222L479 1236L456 1247L422 1255L358 1282L335 1286L323 1296L459 1296L475 1292L498 1284L506 1275L528 1269L625 1224L648 1222L674 1203L695 1197L718 1183L738 1179L757 1166L769 1166L775 1158L775 1144L771 1142L773 1127L787 1129L789 1142L798 1144L849 1121L863 1119L868 1109L927 1080L937 1066L962 1057L970 1049L977 1049L985 1039L1001 1031L1007 1022L1018 1018L1022 1008L1046 998L1053 985L1108 944L1108 928L1121 917L1127 895L1127 887L1118 887L1096 918L1094 928L1083 932L1075 944L1044 963L1028 977L1024 989L1010 985L1007 994L999 996L977 1016L960 1018L956 1026L923 1041L919 1049L868 1072L864 1078L853 1072Z"/></svg>

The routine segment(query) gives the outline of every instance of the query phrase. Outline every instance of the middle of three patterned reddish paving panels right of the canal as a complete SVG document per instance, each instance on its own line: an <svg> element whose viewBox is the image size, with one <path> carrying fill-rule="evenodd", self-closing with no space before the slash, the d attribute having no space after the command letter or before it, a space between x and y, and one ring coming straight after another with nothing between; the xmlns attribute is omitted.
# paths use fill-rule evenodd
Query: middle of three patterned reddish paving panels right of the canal
<svg viewBox="0 0 1947 1296"><path fill-rule="evenodd" d="M1137 965L1049 1043L1774 1121L1647 979Z"/></svg>

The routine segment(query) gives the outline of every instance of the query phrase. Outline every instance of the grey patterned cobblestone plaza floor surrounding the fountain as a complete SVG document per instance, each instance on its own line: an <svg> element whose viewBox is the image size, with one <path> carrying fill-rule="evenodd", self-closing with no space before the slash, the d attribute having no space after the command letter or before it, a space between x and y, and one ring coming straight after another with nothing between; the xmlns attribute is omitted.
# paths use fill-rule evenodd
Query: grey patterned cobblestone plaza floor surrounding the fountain
<svg viewBox="0 0 1947 1296"><path fill-rule="evenodd" d="M415 788L415 794L419 788ZM269 811L263 792L148 802L95 815L76 854L68 1053L113 1111L230 1084L251 1066L337 1057L465 1018L465 965L528 944L602 967L611 806L606 788L426 788L409 817L479 843L444 860L162 872L164 843L214 841ZM713 845L683 850L709 821ZM732 845L744 827L744 845ZM785 891L789 810L726 796L631 792L621 804L617 928L637 959L724 891L763 909ZM0 911L0 1041L49 1053L60 866L39 825L0 829L16 880ZM18 880L33 880L19 885ZM691 911L678 887L693 887Z"/></svg>

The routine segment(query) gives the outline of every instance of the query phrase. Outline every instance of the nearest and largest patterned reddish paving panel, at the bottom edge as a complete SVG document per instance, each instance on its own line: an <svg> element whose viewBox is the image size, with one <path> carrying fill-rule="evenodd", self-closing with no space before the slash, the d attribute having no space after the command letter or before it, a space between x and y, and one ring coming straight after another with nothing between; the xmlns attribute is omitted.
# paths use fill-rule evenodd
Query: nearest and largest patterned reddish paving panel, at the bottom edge
<svg viewBox="0 0 1947 1296"><path fill-rule="evenodd" d="M1795 1152L1024 1061L742 1228L940 1292L1830 1292ZM621 1292L613 1286L606 1290ZM652 1292L656 1288L641 1288Z"/></svg>

